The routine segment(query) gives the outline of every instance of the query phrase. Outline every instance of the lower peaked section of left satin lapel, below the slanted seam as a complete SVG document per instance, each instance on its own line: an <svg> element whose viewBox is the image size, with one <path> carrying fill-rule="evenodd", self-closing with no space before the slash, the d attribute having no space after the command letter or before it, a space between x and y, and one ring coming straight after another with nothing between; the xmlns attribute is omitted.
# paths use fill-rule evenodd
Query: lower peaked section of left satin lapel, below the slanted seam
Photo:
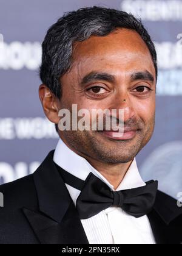
<svg viewBox="0 0 182 256"><path fill-rule="evenodd" d="M23 211L41 244L89 243L73 204L70 204L61 223L27 208Z"/></svg>

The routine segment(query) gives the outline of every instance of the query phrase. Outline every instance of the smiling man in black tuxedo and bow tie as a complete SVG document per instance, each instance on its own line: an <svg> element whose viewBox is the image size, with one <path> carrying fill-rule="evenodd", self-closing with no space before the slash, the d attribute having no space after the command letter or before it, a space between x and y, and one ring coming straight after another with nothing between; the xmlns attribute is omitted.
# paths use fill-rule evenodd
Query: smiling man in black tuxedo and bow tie
<svg viewBox="0 0 182 256"><path fill-rule="evenodd" d="M67 13L45 36L40 76L42 107L60 140L34 174L0 187L1 243L181 243L182 209L141 179L135 161L152 137L157 83L141 21L101 7ZM73 105L123 110L109 116L123 133L106 121L101 130L73 129L73 119L61 129L59 111L73 116Z"/></svg>

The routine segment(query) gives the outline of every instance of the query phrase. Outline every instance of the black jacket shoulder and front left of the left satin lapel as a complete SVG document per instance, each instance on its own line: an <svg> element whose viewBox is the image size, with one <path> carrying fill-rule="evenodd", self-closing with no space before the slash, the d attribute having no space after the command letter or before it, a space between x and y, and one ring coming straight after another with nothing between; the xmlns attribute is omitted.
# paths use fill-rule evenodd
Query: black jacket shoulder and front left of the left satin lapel
<svg viewBox="0 0 182 256"><path fill-rule="evenodd" d="M0 244L37 243L22 208L36 210L33 175L0 186L4 205L0 207ZM1 200L2 201L2 200Z"/></svg>

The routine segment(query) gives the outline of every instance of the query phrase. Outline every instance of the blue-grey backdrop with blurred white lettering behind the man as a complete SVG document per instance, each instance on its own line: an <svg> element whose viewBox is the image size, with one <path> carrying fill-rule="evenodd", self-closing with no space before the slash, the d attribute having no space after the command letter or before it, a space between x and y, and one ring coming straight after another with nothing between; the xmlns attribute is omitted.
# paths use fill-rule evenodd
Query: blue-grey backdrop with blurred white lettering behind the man
<svg viewBox="0 0 182 256"><path fill-rule="evenodd" d="M144 180L177 197L182 191L182 1L0 0L0 183L35 171L58 141L38 98L41 42L62 13L101 5L140 16L160 68L156 127L138 154Z"/></svg>

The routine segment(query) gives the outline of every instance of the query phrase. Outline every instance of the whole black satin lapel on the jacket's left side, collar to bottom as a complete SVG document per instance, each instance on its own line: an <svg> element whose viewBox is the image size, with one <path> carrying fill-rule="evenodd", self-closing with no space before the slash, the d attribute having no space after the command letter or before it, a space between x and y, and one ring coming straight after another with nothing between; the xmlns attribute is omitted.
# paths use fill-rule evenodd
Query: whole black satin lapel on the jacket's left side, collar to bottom
<svg viewBox="0 0 182 256"><path fill-rule="evenodd" d="M53 152L33 174L39 211L23 208L23 212L42 244L88 244L75 205L53 163Z"/></svg>

